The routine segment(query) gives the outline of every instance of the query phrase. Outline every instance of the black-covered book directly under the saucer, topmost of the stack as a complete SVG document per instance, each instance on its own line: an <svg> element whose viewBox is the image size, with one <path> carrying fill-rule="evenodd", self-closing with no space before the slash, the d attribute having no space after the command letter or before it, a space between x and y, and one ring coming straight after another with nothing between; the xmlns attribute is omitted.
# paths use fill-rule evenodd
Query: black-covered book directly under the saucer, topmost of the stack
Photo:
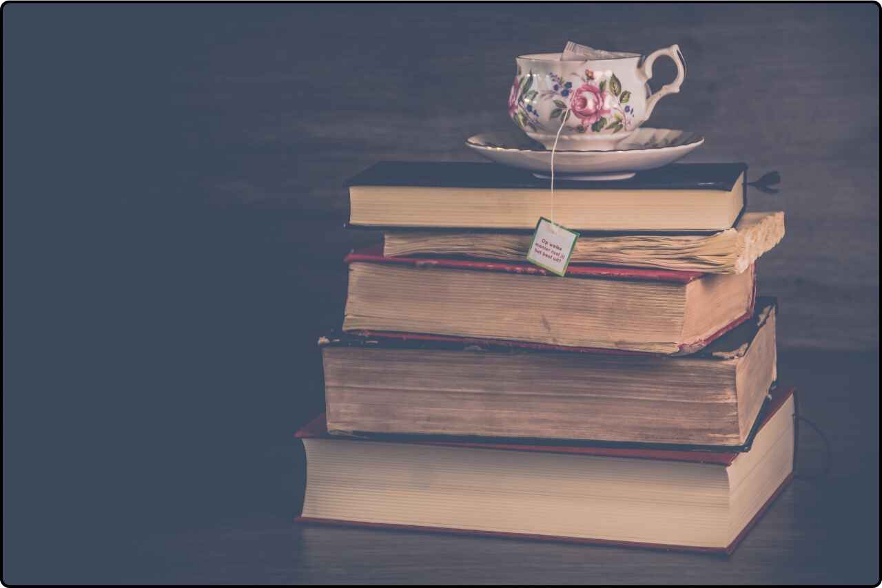
<svg viewBox="0 0 882 588"><path fill-rule="evenodd" d="M384 161L352 178L354 227L722 231L744 209L744 163L684 163L627 180L549 180L492 163Z"/></svg>

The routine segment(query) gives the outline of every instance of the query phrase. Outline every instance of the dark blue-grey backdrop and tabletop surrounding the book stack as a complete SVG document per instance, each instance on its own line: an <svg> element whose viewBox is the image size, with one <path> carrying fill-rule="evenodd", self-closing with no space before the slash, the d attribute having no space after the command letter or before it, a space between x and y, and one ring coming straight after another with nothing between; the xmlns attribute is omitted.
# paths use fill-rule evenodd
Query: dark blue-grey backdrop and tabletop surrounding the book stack
<svg viewBox="0 0 882 588"><path fill-rule="evenodd" d="M4 4L4 582L878 581L878 31L875 4ZM570 39L678 43L651 123L781 172L750 194L787 212L761 289L831 473L729 560L296 528L315 341L374 238L345 179L474 160L514 57Z"/></svg>

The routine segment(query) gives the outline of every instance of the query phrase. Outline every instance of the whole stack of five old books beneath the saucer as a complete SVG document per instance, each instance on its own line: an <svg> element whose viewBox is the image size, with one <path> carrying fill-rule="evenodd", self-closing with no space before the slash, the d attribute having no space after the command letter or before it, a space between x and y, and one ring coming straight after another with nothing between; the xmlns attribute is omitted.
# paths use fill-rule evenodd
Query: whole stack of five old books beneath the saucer
<svg viewBox="0 0 882 588"><path fill-rule="evenodd" d="M757 259L782 212L746 166L617 182L385 162L350 182L326 413L298 432L302 522L730 552L793 471L776 302ZM564 277L531 229L579 231Z"/></svg>

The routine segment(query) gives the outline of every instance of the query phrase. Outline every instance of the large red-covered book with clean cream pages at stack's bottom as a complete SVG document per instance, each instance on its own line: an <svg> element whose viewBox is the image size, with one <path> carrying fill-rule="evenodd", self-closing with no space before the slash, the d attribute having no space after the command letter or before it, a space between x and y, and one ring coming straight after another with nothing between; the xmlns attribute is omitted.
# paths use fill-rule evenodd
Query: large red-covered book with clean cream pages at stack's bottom
<svg viewBox="0 0 882 588"><path fill-rule="evenodd" d="M394 442L297 432L301 523L731 553L793 474L796 396L777 387L745 452Z"/></svg>

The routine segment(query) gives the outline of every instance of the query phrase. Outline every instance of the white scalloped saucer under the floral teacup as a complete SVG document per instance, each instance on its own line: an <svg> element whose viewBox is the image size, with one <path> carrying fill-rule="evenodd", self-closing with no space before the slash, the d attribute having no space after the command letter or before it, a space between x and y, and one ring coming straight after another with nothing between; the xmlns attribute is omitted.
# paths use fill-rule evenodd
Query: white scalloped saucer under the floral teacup
<svg viewBox="0 0 882 588"><path fill-rule="evenodd" d="M644 169L666 166L691 153L705 138L683 130L640 127L622 139L613 151L555 152L556 177L567 180L624 180ZM529 169L550 177L551 151L518 130L480 133L466 145L504 166Z"/></svg>

